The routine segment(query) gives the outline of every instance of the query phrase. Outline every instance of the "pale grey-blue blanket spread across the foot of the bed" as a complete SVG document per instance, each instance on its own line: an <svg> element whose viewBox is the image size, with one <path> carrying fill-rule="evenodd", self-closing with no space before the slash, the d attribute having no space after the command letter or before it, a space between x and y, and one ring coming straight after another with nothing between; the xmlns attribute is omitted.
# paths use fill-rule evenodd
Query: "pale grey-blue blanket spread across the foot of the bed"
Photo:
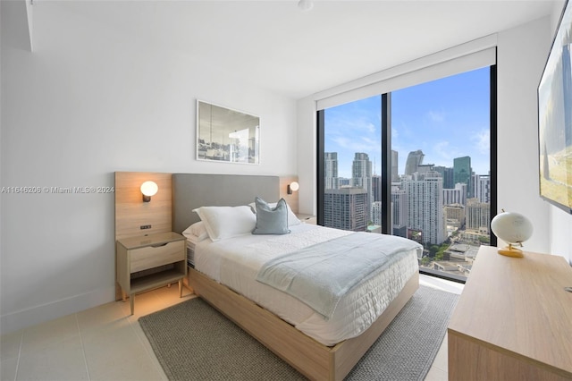
<svg viewBox="0 0 572 381"><path fill-rule="evenodd" d="M351 233L268 260L257 281L290 294L328 320L353 286L410 250L423 247L393 235Z"/></svg>

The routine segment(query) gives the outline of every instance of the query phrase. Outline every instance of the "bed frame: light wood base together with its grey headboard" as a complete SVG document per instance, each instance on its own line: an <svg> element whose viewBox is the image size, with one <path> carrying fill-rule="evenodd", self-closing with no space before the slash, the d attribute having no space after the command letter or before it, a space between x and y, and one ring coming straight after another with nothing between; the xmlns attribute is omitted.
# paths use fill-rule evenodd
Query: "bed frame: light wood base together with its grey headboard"
<svg viewBox="0 0 572 381"><path fill-rule="evenodd" d="M191 212L195 207L248 205L255 196L277 201L280 184L277 176L172 174L172 230L181 233L197 222L197 214ZM313 380L346 377L419 286L416 273L364 333L329 347L192 267L188 276L189 287L198 296Z"/></svg>

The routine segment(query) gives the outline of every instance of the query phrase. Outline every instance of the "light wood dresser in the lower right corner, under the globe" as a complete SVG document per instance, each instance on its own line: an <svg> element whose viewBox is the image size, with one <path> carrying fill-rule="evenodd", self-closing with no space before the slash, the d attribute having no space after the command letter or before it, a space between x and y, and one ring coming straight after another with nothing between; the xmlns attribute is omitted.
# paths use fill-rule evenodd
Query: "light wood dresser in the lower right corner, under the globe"
<svg viewBox="0 0 572 381"><path fill-rule="evenodd" d="M448 327L450 380L572 379L572 267L482 246Z"/></svg>

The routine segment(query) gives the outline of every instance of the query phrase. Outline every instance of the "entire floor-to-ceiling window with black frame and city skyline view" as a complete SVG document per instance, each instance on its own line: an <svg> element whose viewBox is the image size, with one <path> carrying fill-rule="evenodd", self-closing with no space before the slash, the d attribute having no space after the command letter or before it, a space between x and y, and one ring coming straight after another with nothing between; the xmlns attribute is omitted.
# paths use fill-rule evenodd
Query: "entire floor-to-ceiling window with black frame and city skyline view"
<svg viewBox="0 0 572 381"><path fill-rule="evenodd" d="M318 223L425 247L421 271L465 280L492 237L495 67L318 112Z"/></svg>

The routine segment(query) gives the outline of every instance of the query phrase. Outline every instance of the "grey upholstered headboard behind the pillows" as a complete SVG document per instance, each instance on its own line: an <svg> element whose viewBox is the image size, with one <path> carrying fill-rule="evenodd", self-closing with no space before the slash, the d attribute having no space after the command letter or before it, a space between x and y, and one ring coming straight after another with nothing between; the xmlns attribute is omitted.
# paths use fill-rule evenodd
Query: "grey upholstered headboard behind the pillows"
<svg viewBox="0 0 572 381"><path fill-rule="evenodd" d="M199 221L197 207L236 207L260 197L281 198L280 177L242 174L172 174L172 231L182 233ZM287 199L288 201L288 199Z"/></svg>

